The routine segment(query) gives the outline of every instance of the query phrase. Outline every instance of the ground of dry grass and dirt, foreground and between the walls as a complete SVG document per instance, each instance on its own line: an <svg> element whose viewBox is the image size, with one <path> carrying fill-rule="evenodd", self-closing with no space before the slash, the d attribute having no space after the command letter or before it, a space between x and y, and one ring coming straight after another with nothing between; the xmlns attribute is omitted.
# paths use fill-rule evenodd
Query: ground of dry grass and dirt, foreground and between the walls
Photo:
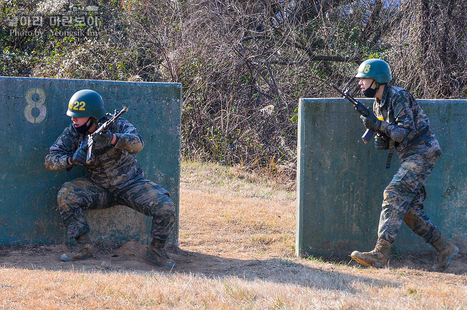
<svg viewBox="0 0 467 310"><path fill-rule="evenodd" d="M59 261L64 245L3 247L0 309L467 309L465 256L445 273L425 270L432 256L296 258L294 200L287 183L184 162L176 269L136 242L78 263Z"/></svg>

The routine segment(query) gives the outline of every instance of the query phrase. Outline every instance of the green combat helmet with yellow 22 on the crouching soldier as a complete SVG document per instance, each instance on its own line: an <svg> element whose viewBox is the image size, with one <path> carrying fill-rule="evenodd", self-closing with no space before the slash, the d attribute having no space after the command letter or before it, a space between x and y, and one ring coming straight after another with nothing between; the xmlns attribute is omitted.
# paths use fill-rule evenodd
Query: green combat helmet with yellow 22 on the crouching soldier
<svg viewBox="0 0 467 310"><path fill-rule="evenodd" d="M67 116L92 117L100 120L105 115L104 101L101 95L91 90L81 90L70 98Z"/></svg>

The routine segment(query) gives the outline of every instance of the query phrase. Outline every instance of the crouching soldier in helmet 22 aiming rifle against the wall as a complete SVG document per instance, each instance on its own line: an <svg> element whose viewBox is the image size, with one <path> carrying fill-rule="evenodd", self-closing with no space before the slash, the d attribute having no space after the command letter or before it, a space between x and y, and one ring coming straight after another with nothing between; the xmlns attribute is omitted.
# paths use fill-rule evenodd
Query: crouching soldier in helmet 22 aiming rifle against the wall
<svg viewBox="0 0 467 310"><path fill-rule="evenodd" d="M111 116L105 113L102 97L91 90L76 92L69 101L66 115L71 117L71 124L50 147L45 167L63 170L83 165L86 176L65 182L58 192L58 207L68 237L78 242L76 251L63 253L60 258L73 262L94 255L83 210L122 205L153 217L152 241L147 255L158 266L175 267L165 250L165 242L176 222L175 207L168 191L145 179L136 161L134 154L144 147L143 138L121 117L110 125L109 131L93 134L99 123L108 121ZM92 134L95 148L87 163L89 134Z"/></svg>

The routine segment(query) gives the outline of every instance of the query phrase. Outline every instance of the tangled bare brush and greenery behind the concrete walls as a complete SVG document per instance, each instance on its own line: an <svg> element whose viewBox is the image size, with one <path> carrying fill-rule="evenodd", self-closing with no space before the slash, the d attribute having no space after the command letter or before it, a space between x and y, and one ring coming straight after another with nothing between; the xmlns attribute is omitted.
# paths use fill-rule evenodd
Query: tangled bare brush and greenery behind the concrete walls
<svg viewBox="0 0 467 310"><path fill-rule="evenodd" d="M97 22L49 19L82 12ZM455 0L3 0L0 75L182 83L184 156L293 174L299 98L337 96L315 77L358 96L358 64L381 58L418 98L465 98L466 13Z"/></svg>

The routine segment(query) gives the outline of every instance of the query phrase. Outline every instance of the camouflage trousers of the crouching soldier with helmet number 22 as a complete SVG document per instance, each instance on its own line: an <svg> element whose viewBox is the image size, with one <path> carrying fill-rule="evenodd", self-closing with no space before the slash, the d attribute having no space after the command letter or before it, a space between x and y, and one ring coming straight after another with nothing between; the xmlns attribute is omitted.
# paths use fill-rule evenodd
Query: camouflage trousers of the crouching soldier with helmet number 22
<svg viewBox="0 0 467 310"><path fill-rule="evenodd" d="M127 206L153 217L151 237L167 240L176 222L175 206L168 191L149 180L137 180L123 188L102 187L88 178L65 182L57 195L58 207L69 238L89 232L83 210Z"/></svg>

